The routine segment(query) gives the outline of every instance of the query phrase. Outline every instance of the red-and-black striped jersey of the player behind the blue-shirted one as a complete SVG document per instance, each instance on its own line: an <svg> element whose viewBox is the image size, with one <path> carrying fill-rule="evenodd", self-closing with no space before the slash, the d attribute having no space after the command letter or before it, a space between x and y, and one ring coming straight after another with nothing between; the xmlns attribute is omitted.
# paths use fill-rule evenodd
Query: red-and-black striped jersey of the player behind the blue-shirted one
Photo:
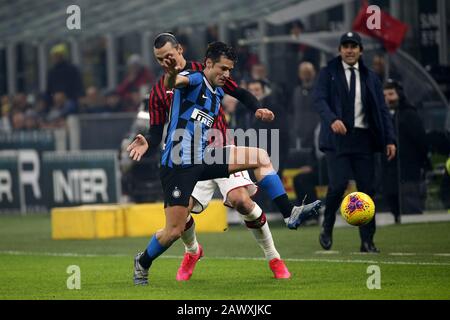
<svg viewBox="0 0 450 320"><path fill-rule="evenodd" d="M188 61L183 70L201 71L203 70L203 65L200 62ZM238 88L236 82L228 79L225 83L223 90L227 94L231 94L234 90ZM167 116L170 112L170 107L172 105L173 91L167 90L164 87L164 75L161 76L158 82L152 87L150 91L150 97L148 101L148 112L150 114L150 126L153 125L164 125L167 120ZM222 133L222 137L226 137L226 130L228 129L228 124L225 119L225 113L223 108L220 108L219 115L213 124L213 128L219 130ZM215 142L215 145L226 143Z"/></svg>

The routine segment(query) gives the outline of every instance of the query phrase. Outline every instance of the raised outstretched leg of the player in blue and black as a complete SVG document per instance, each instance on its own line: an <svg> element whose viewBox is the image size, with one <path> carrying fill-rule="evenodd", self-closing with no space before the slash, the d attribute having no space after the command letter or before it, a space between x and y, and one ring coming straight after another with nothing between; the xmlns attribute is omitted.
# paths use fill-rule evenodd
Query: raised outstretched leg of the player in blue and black
<svg viewBox="0 0 450 320"><path fill-rule="evenodd" d="M319 214L318 210L322 205L320 200L294 207L265 150L247 147L231 148L228 170L233 173L245 169L254 169L259 186L275 202L289 229L297 229L304 221Z"/></svg>

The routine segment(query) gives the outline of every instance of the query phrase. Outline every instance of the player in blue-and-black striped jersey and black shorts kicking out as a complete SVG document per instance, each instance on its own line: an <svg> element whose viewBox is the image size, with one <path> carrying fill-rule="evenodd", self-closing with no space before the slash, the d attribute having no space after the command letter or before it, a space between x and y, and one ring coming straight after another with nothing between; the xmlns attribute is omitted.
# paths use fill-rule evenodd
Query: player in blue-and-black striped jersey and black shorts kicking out
<svg viewBox="0 0 450 320"><path fill-rule="evenodd" d="M274 201L281 205L281 207L290 207L290 209L292 209L290 219L289 216L287 218L287 220L289 220L288 226L290 228L296 228L302 218L316 213L315 210L318 206L320 206L320 203L316 203L309 206L293 208L287 201L281 181L279 181L279 178L275 174L271 164L263 165L258 162L255 166L249 164L239 164L235 161L240 154L245 154L252 157L263 157L267 160L267 153L260 149L253 148L253 150L252 148L234 148L231 152L232 160L230 165L192 165L192 159L195 156L202 157L202 152L204 151L206 145L206 141L201 142L201 147L199 150L200 153L198 154L194 154L191 151L194 128L198 125L198 123L202 124L200 125L202 130L211 127L212 122L219 115L221 109L220 100L224 94L220 87L225 85L226 80L229 78L229 71L233 65L233 61L231 59L227 59L222 56L225 51L220 51L219 49L223 45L224 44L216 44L215 51L214 46L210 48L210 57L207 56L206 60L208 67L205 70L204 76L202 73L185 73L186 77L181 77L181 79L184 79L182 80L184 81L184 85L188 85L188 87L195 87L195 90L192 90L191 88L190 90L180 89L175 91L173 105L176 106L176 108L172 107L171 110L169 134L166 138L166 149L162 156L161 180L165 191L167 223L166 228L152 238L147 250L136 258L135 283L137 284L147 282L148 267L150 266L151 261L164 252L166 248L179 237L179 233L182 231L182 229L180 229L180 217L185 217L184 213L186 213L186 216L188 214L187 207L189 204L189 195L193 189L192 183L195 184L198 180L225 177L228 176L229 173L238 172L246 168L256 169L255 172L257 172L256 176L258 177L258 180L260 180L262 187L269 191L269 194L271 194ZM213 53L212 55L211 52ZM217 64L219 64L222 59L225 59L225 62L228 63L228 65L225 63L222 64L221 67L217 67ZM167 64L167 61L170 61L171 63L169 74L172 76L165 78L167 84L169 81L168 79L174 78L173 75L174 70L176 70L177 63L172 57L166 57L163 60L165 60L165 64ZM178 67L178 70L179 69L181 68ZM186 82L186 79L189 80ZM207 79L209 79L209 81ZM214 87L211 86L211 83L214 83ZM167 87L167 85L165 87ZM259 114L260 117L262 115L261 118L264 118L264 116L269 116L270 118L270 111L268 110L260 109L256 112L256 114ZM183 128L184 131L190 133L187 135L183 134L183 137L186 139L183 139L181 142L175 142L171 137L176 128ZM172 151L177 147L177 144L181 145L180 150L184 152L181 156L181 166L180 163L174 163L171 157L171 155L173 155ZM132 145L130 145L130 150L130 155L135 159L138 160L141 157L142 153L140 152L142 150L136 151L136 146L132 147ZM135 152L133 152L133 150ZM180 185L180 188L178 188L178 185ZM182 227L184 227L184 223ZM197 254L200 255L200 253Z"/></svg>

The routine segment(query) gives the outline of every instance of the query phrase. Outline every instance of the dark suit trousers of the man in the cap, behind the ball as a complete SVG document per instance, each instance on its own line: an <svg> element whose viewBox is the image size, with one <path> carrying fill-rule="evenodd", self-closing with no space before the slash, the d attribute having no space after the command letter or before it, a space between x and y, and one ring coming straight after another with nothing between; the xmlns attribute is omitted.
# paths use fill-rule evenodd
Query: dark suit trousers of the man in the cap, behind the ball
<svg viewBox="0 0 450 320"><path fill-rule="evenodd" d="M328 192L325 200L323 229L332 234L336 211L340 208L350 179L356 181L357 190L374 195L375 160L368 130L353 129L340 137L336 151L326 151L328 169ZM375 217L359 227L362 242L373 242L376 230Z"/></svg>

